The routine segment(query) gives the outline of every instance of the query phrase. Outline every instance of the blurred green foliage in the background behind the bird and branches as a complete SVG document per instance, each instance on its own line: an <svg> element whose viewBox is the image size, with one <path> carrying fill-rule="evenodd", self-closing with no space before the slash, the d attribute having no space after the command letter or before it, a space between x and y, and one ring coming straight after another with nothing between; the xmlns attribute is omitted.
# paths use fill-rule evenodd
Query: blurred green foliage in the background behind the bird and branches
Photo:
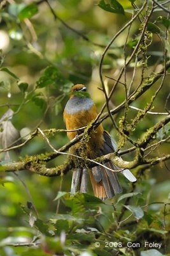
<svg viewBox="0 0 170 256"><path fill-rule="evenodd" d="M101 109L104 95L97 89L101 86L99 80L101 54L104 51L104 45L106 46L112 36L124 26L125 22L131 19L133 2L129 0L119 1L124 8L123 11L125 10L124 15L121 13L123 12L121 8L118 13L106 12L97 5L99 1L93 0L49 1L52 9L46 1L1 1L0 116L4 115L9 106L13 109L14 115L11 122L20 131L23 141L27 138L27 134L34 131L38 126L41 129L65 128L62 112L72 84L87 84L98 111ZM136 1L136 4L140 3ZM148 1L149 5L150 2ZM153 23L150 24L151 38L147 49L148 61L145 77L150 73L150 70L156 72L162 67L164 48L160 37L164 38L166 28L169 28L166 13L161 10L153 12L150 22ZM140 22L136 19L129 31L126 47L127 56L131 54L134 45L138 42L139 27ZM155 33L158 32L158 28L161 30L159 35ZM104 58L104 82L108 92L113 86L113 81L106 76L117 78L118 72L123 67L126 37L127 29L118 36ZM169 44L166 47L168 52ZM169 58L169 52L167 57ZM132 60L131 65L127 67L127 83L131 82L134 62L135 60ZM140 82L141 68L139 56L133 90ZM164 87L154 102L154 109L152 110L155 112L165 112L164 104L169 93L168 78L169 76L166 77ZM136 100L134 106L141 109L145 108L159 83L160 81L143 97ZM120 84L117 86L111 102L113 106L117 106L124 99L124 88ZM134 109L129 111L129 124L136 113ZM118 113L115 117L117 122L123 114L123 111ZM132 132L132 138L134 140L141 138L143 133L159 122L161 118L157 115L146 115L145 119L139 122L135 131ZM113 129L109 119L104 121L104 128L118 139L117 132ZM160 131L157 136L158 139L163 138L161 136L164 136L164 131L162 134ZM50 136L50 141L55 148L60 148L68 139L65 132L59 132ZM43 138L38 136L22 147L20 152L10 152L10 157L13 161L17 161L20 157L47 151L50 151L50 148ZM168 152L169 144L166 143L155 150L154 156L162 156ZM4 155L3 153L0 155L1 161L3 161ZM131 154L125 159L131 160L133 156ZM48 165L55 166L65 160L66 157L60 156ZM54 252L58 252L57 255L62 255L63 252L66 255L80 255L83 251L89 253L85 255L117 255L117 252L120 253L118 255L145 255L138 254L139 250L135 251L131 248L127 250L125 244L129 239L130 241L149 239L147 230L155 234L155 241L164 243L168 239L164 227L164 202L168 202L169 178L168 162L158 164L151 170L144 170L141 179L138 179L135 190L139 194L129 195L131 204L138 208L137 213L133 209L130 211L132 212L130 222L136 223L135 230L131 225L123 226L122 229L116 228L117 231L115 232L112 230L111 236L107 238L104 230L107 230L111 223L116 220L115 215L120 214L123 204L122 202L117 204L117 212L115 212L111 202L116 204L120 195L113 198L108 204L103 204L93 196L88 198L85 195L77 195L73 199L69 198L68 194L58 194L57 200L54 200L58 191L69 192L71 173L67 173L64 177L51 178L26 171L19 172L17 176L13 173L1 174L0 255L53 255ZM124 193L132 191L132 184L128 184L127 180L122 179L121 183ZM89 188L89 193L92 194L91 188ZM56 215L60 196L62 200L57 211L62 215ZM159 203L152 204L153 202ZM146 204L151 205L141 208ZM168 207L169 205L166 207L167 229L170 227ZM129 212L125 213L124 218L127 216L129 216ZM75 227L79 228L81 234L78 234ZM87 227L91 229L88 230ZM61 237L64 236L62 230L69 234L64 246ZM138 236L140 232L143 237ZM119 248L118 251L115 250L115 254L114 250L111 251L113 248L110 250L110 248L103 246L103 249L99 250L99 248L94 247L95 236L103 236L103 239L100 238L102 241L121 241L123 248ZM39 243L39 237L41 237L40 248L9 246L9 244L31 243L31 241L35 243L38 241ZM167 241L166 244L168 244ZM169 247L166 248L166 252L168 249ZM160 252L165 253L164 246Z"/></svg>

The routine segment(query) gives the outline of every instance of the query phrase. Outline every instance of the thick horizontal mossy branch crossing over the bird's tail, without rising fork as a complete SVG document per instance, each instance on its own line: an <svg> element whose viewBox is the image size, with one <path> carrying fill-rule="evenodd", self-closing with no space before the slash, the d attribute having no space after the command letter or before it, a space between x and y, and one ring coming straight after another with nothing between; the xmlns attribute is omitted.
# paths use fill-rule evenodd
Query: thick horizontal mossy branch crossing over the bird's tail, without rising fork
<svg viewBox="0 0 170 256"><path fill-rule="evenodd" d="M108 161L112 161L113 164L120 166L121 168L124 169L132 169L135 168L136 166L139 165L144 165L146 166L152 166L154 164L161 163L163 161L167 161L170 159L170 154L164 157L155 157L152 159L143 159L141 157L141 154L136 154L136 157L134 158L133 161L124 161L120 157L115 156L114 153L97 157L94 159L97 163L106 163ZM97 166L97 163L92 163L89 160L85 160L85 165L88 166L89 168L92 168L94 166ZM22 171L22 170L29 170L30 172L38 173L39 175L43 176L48 176L48 177L53 177L53 176L59 176L59 175L65 175L69 170L76 168L78 166L75 165L73 159L69 159L67 163L64 163L62 165L56 166L54 168L46 168L45 164L43 163L34 163L34 162L28 162L25 163L24 161L22 162L17 162L17 163L8 163L4 164L3 166L0 166L0 171L1 172L17 172L17 171ZM121 170L116 171L116 172L121 172Z"/></svg>

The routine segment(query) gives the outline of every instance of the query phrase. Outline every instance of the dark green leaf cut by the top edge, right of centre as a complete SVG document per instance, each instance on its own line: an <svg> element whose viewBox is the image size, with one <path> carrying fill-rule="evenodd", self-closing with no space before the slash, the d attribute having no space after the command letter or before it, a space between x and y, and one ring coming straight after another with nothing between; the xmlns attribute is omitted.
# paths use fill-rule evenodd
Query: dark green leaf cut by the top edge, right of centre
<svg viewBox="0 0 170 256"><path fill-rule="evenodd" d="M101 0L98 6L106 12L120 13L122 15L125 15L124 8L120 3L118 3L117 0L111 0L110 4L105 3L104 0Z"/></svg>

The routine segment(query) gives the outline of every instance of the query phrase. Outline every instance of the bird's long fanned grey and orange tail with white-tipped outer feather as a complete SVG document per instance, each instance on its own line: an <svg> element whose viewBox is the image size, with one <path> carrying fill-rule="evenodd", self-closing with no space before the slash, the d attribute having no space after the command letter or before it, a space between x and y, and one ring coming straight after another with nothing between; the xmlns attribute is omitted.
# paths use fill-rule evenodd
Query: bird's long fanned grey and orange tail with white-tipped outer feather
<svg viewBox="0 0 170 256"><path fill-rule="evenodd" d="M104 131L103 136L104 146L101 149L100 156L110 154L117 148L115 140L111 138L108 132ZM112 198L117 193L122 193L122 187L118 181L117 172L122 173L131 182L136 181L136 177L134 177L128 169L119 168L111 161L108 161L103 165L104 166L95 166L92 170L89 170L94 195L102 200ZM111 170L108 170L107 168L110 168ZM80 193L87 193L87 180L87 168L76 168L73 172L71 194L74 195L77 190L80 190Z"/></svg>

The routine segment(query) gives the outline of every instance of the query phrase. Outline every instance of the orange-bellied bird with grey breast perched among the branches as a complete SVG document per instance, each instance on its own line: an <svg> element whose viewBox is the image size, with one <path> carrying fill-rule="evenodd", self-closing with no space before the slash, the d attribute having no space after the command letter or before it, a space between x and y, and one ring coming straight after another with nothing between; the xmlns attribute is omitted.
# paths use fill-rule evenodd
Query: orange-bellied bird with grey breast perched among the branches
<svg viewBox="0 0 170 256"><path fill-rule="evenodd" d="M84 84L74 84L71 87L70 97L64 108L64 122L66 124L67 137L73 140L83 132L82 127L87 127L97 117L97 109L94 101L87 93L87 87ZM78 131L73 131L78 130ZM100 124L95 130L92 130L87 136L86 141L78 141L70 149L71 154L80 157L95 159L99 156L113 153L117 148L117 143L107 131L104 131ZM111 170L109 170L110 168ZM79 189L80 193L87 193L88 173L92 184L94 195L101 200L113 198L115 194L122 193L122 186L118 181L117 172L120 171L131 182L136 181L136 177L127 169L115 166L111 161L101 165L94 166L90 170L87 166L75 168L71 182L71 194L75 195Z"/></svg>

